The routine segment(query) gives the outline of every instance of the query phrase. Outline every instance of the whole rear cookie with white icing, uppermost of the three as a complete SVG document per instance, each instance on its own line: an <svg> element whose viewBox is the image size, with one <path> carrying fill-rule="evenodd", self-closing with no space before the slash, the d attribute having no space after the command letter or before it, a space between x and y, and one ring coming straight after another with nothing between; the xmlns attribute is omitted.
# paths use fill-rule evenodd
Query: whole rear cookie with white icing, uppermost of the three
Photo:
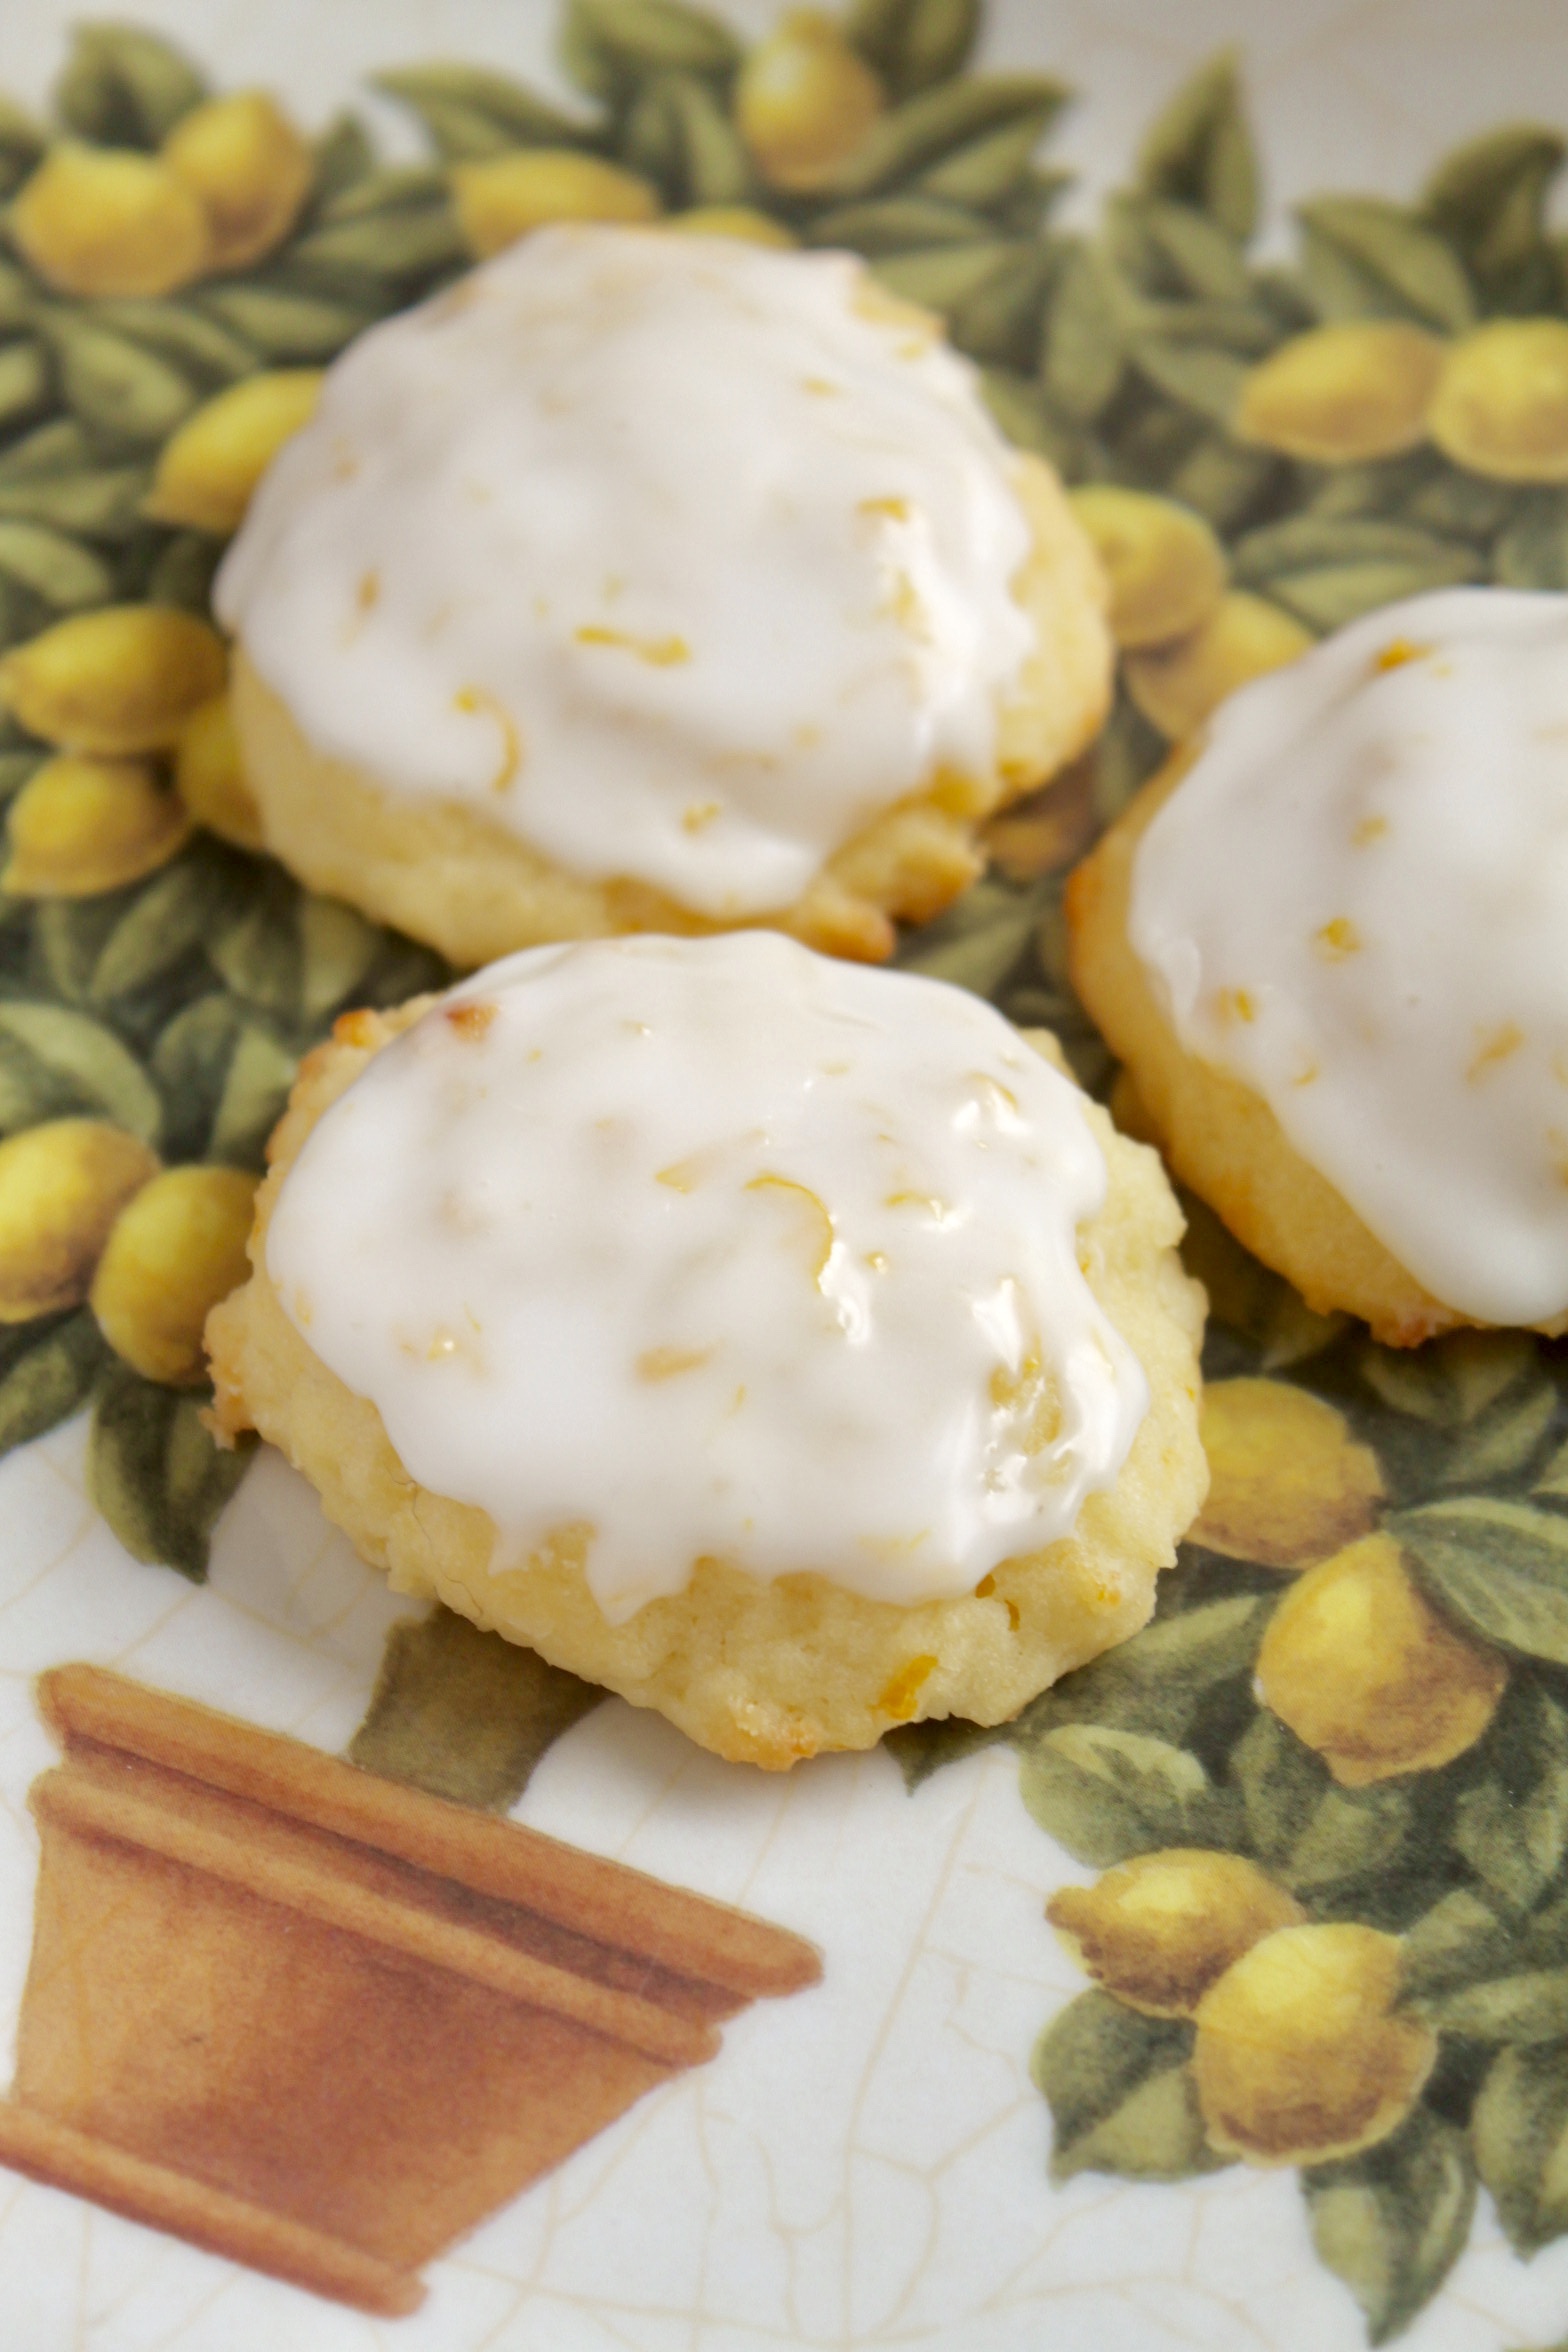
<svg viewBox="0 0 1568 2352"><path fill-rule="evenodd" d="M1093 548L938 322L663 230L538 230L364 334L216 607L268 847L456 964L879 960L1110 694Z"/></svg>

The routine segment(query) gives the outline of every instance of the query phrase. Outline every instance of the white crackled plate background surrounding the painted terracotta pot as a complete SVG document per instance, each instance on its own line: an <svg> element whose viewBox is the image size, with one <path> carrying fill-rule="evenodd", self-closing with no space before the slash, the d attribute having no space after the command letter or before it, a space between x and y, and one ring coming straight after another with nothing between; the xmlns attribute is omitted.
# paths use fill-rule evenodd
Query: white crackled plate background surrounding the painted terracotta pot
<svg viewBox="0 0 1568 2352"><path fill-rule="evenodd" d="M26 1788L54 1750L31 1677L92 1658L336 1750L400 1604L280 1461L242 1489L207 1590L125 1559L82 1496L82 1432L0 1468L0 1999L26 1973ZM541 1830L811 1936L823 1987L635 2107L371 2321L0 2176L16 2352L1356 2352L1288 2173L1048 2190L1027 2077L1081 1978L1041 1919L1088 1877L1041 1839L1009 1750L905 1797L886 1755L778 1783L609 1703L541 1764ZM1568 2249L1521 2267L1483 2216L1413 2352L1549 2343Z"/></svg>

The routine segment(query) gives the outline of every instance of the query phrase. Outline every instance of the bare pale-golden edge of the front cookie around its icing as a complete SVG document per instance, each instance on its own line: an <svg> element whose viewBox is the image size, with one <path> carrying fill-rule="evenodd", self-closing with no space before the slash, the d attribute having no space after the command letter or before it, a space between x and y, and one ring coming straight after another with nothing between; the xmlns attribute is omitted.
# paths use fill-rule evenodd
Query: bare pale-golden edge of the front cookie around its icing
<svg viewBox="0 0 1568 2352"><path fill-rule="evenodd" d="M489 1515L407 1475L376 1406L308 1348L266 1272L273 1202L306 1136L421 1011L416 1002L393 1016L348 1014L308 1056L256 1200L252 1279L207 1324L219 1432L256 1428L277 1444L397 1592L442 1599L656 1708L703 1748L773 1771L820 1750L870 1748L919 1717L1006 1722L1147 1621L1154 1578L1208 1486L1197 1435L1204 1294L1175 1256L1182 1221L1157 1155L1117 1136L1098 1105L1110 1195L1081 1228L1081 1263L1138 1355L1152 1404L1114 1486L1088 1496L1072 1536L1004 1562L964 1599L914 1609L860 1599L809 1571L759 1583L703 1559L684 1592L649 1602L628 1625L602 1618L571 1531L522 1566L494 1569ZM1053 1040L1032 1042L1053 1051Z"/></svg>

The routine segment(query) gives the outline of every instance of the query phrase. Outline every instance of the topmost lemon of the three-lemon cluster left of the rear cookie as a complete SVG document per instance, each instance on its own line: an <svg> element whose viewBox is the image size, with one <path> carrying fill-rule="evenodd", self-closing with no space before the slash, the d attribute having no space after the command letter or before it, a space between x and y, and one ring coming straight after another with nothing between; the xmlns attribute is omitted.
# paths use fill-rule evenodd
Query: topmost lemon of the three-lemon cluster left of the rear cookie
<svg viewBox="0 0 1568 2352"><path fill-rule="evenodd" d="M0 701L63 750L172 750L223 684L223 640L167 604L106 604L56 621L0 661Z"/></svg>

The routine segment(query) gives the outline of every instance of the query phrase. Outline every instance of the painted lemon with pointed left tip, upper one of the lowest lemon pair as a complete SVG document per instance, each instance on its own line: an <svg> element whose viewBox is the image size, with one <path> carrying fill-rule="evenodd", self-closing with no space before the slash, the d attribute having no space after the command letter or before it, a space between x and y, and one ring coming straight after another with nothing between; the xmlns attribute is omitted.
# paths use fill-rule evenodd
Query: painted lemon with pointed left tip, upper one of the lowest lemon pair
<svg viewBox="0 0 1568 2352"><path fill-rule="evenodd" d="M1232 1962L1305 1912L1239 1853L1171 1846L1119 1863L1093 1886L1058 1889L1046 1919L1119 2002L1190 2018Z"/></svg>

